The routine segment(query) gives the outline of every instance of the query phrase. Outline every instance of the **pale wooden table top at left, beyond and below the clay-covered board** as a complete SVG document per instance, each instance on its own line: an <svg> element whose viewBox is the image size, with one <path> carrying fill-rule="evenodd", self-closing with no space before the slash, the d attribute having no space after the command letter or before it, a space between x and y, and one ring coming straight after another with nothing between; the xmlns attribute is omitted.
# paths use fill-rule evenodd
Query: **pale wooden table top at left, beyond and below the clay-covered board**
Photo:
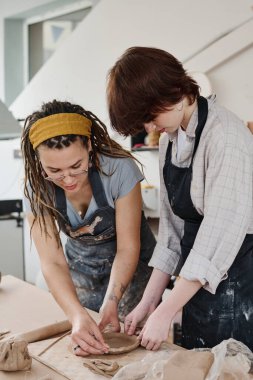
<svg viewBox="0 0 253 380"><path fill-rule="evenodd" d="M3 276L0 283L0 331L26 332L44 325L66 320L52 295L12 276ZM38 380L49 376L66 380L39 361L33 359L31 371L3 372L1 380Z"/></svg>

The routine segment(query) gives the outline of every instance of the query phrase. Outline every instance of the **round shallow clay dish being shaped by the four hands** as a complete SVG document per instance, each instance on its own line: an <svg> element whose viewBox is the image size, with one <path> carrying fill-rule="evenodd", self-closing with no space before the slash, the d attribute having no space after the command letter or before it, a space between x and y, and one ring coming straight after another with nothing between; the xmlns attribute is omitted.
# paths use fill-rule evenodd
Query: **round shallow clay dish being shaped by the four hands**
<svg viewBox="0 0 253 380"><path fill-rule="evenodd" d="M136 335L124 333L103 333L105 343L109 346L108 354L124 354L130 352L140 345Z"/></svg>

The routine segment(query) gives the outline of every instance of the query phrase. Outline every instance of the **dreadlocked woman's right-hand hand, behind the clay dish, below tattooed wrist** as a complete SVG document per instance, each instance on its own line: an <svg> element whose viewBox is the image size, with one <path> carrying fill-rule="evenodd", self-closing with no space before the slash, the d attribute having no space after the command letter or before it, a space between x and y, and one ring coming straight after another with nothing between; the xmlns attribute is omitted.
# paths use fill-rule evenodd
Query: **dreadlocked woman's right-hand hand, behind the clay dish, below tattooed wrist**
<svg viewBox="0 0 253 380"><path fill-rule="evenodd" d="M120 332L120 323L118 318L118 305L112 300L107 300L100 308L99 314L101 320L98 327L103 331L106 326L110 325L110 330Z"/></svg>

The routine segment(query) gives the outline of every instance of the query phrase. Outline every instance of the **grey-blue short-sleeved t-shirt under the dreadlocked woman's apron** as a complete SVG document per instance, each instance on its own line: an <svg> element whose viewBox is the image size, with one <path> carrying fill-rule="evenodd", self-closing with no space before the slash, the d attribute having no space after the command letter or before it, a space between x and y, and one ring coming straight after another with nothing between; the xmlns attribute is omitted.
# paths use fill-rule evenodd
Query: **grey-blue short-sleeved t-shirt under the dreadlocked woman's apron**
<svg viewBox="0 0 253 380"><path fill-rule="evenodd" d="M100 155L99 160L102 171L102 173L100 172L99 174L105 195L109 205L114 208L115 201L128 194L138 182L143 180L144 177L132 158L112 158ZM30 212L30 203L26 197L24 202L26 212ZM97 209L98 206L92 196L84 218L88 218ZM68 200L67 214L72 228L77 228L83 223L83 218L80 217Z"/></svg>

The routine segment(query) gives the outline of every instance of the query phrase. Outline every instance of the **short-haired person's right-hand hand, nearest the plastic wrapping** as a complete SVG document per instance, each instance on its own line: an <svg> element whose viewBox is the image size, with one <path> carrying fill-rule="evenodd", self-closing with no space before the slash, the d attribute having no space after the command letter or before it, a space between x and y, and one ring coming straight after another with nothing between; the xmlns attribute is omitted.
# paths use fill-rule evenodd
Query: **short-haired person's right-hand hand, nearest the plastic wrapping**
<svg viewBox="0 0 253 380"><path fill-rule="evenodd" d="M147 350L156 351L161 343L166 341L169 336L172 317L164 303L161 303L157 309L150 315L138 339L141 346Z"/></svg>

